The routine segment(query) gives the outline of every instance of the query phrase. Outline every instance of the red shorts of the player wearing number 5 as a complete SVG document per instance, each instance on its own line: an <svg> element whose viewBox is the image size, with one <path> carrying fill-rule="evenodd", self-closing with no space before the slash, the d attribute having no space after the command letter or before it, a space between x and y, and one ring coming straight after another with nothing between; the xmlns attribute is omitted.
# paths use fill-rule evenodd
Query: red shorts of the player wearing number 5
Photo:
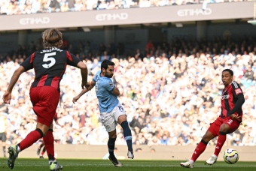
<svg viewBox="0 0 256 171"><path fill-rule="evenodd" d="M59 92L53 87L43 86L30 89L29 95L38 122L50 127L59 103Z"/></svg>

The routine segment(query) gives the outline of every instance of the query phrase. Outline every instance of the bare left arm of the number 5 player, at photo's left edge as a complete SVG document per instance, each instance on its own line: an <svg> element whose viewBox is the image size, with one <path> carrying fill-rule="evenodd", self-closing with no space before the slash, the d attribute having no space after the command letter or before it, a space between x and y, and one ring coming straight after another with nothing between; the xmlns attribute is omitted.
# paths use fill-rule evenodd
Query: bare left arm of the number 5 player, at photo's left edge
<svg viewBox="0 0 256 171"><path fill-rule="evenodd" d="M26 69L23 66L20 66L16 71L14 71L13 76L11 77L10 84L8 86L7 91L5 92L5 95L3 96L3 100L5 104L10 104L11 101L11 92L14 89L14 85L17 83L17 80L19 80L19 77L23 72L25 72Z"/></svg>

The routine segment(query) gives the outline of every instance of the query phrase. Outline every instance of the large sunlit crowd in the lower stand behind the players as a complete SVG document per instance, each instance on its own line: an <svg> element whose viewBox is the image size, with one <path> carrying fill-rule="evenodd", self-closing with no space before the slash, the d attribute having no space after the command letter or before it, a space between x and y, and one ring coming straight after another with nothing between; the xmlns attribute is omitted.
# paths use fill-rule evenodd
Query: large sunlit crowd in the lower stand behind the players
<svg viewBox="0 0 256 171"><path fill-rule="evenodd" d="M227 136L229 145L256 145L256 43L252 37L241 40L215 38L179 40L155 45L148 42L145 55L139 50L128 58L111 58L115 65L114 83L120 89L119 100L126 110L137 145L196 145L209 124L220 115L221 71L234 71L245 95L243 121L235 133ZM40 43L37 47L40 48ZM102 45L99 48L99 54ZM29 48L27 49L29 52ZM32 49L30 49L32 50ZM14 58L2 56L0 98L10 75L26 58L26 52ZM87 51L86 51L87 52ZM104 54L104 52L103 52ZM77 54L78 56L84 55ZM104 55L103 55L104 56ZM103 57L104 58L104 57ZM85 58L88 80L100 70L99 56ZM29 101L29 86L34 71L21 75L14 87L11 104L0 101L0 113L8 121L8 144L17 144L35 127L35 113ZM99 121L94 89L72 104L81 92L79 70L68 67L61 82L61 98L54 137L59 144L107 144L108 133ZM215 144L216 139L210 144ZM125 145L121 127L117 127L117 145Z"/></svg>

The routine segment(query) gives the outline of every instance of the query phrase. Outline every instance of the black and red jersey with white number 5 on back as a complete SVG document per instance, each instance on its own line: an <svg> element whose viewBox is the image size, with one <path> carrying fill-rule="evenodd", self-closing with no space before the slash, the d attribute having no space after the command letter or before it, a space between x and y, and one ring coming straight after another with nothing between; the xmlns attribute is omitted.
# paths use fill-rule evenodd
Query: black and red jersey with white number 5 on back
<svg viewBox="0 0 256 171"><path fill-rule="evenodd" d="M77 67L81 59L66 50L53 47L36 51L21 64L26 71L34 68L35 81L31 87L51 86L59 91L59 82L66 65Z"/></svg>

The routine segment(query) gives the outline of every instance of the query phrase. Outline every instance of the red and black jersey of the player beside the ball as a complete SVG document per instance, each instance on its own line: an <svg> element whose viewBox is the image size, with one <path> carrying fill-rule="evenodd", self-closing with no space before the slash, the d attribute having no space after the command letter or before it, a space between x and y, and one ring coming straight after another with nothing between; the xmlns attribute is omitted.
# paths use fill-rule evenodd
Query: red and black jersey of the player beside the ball
<svg viewBox="0 0 256 171"><path fill-rule="evenodd" d="M230 113L230 111L235 107L236 101L238 101L240 95L243 96L242 89L235 81L224 88L221 96L221 118L227 118L227 116L233 114ZM242 118L242 105L238 110L234 111L234 114Z"/></svg>

